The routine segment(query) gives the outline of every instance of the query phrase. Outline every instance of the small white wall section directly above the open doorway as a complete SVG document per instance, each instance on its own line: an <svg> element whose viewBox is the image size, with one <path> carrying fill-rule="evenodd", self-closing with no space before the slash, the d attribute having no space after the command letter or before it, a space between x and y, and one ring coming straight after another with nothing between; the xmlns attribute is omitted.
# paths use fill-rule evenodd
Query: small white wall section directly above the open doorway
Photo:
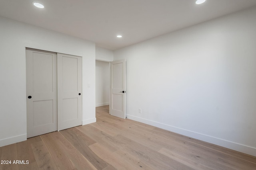
<svg viewBox="0 0 256 170"><path fill-rule="evenodd" d="M113 61L114 60L114 52L108 49L104 49L101 47L95 47L95 58L99 61Z"/></svg>

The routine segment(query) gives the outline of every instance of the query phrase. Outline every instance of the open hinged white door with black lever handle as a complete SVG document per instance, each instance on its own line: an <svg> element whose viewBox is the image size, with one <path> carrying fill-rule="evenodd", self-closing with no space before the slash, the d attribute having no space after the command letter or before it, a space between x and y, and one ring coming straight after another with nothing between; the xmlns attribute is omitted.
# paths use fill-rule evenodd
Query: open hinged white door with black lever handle
<svg viewBox="0 0 256 170"><path fill-rule="evenodd" d="M125 119L126 61L110 63L110 115Z"/></svg>

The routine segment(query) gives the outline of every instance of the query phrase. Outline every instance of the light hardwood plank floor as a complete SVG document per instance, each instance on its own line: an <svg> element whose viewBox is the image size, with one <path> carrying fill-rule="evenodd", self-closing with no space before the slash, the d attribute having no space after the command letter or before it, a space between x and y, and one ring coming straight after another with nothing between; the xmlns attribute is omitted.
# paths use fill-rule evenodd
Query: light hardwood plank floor
<svg viewBox="0 0 256 170"><path fill-rule="evenodd" d="M108 114L97 122L0 147L0 170L256 170L256 157Z"/></svg>

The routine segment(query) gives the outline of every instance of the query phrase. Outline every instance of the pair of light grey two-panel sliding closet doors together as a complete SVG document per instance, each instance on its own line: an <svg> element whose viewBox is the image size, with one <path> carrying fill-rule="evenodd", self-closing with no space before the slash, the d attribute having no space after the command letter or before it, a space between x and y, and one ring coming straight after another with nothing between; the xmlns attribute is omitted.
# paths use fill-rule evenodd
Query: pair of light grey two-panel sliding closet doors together
<svg viewBox="0 0 256 170"><path fill-rule="evenodd" d="M26 98L27 138L82 125L82 57L26 48Z"/></svg>

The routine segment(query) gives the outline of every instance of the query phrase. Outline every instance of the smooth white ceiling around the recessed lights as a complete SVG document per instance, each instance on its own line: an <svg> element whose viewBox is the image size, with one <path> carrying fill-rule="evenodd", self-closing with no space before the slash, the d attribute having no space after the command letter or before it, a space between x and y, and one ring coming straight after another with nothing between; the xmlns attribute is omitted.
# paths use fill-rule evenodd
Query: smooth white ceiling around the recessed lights
<svg viewBox="0 0 256 170"><path fill-rule="evenodd" d="M0 16L116 50L256 6L256 0L0 0ZM44 9L33 6L39 2ZM123 35L117 38L116 35Z"/></svg>

